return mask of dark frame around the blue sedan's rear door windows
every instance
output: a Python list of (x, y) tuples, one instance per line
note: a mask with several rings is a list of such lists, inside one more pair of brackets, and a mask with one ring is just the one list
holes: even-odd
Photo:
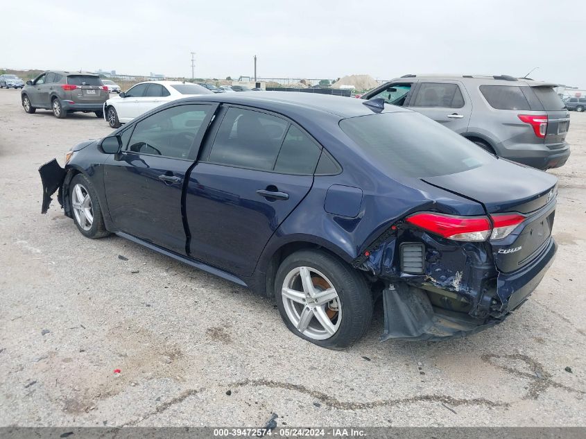
[[(230, 110), (230, 108), (239, 108), (241, 110), (250, 110), (250, 111), (268, 114), (269, 116), (277, 117), (278, 119), (282, 119), (284, 122), (288, 123), (286, 130), (284, 130), (284, 133), (283, 133), (283, 136), (281, 139), (281, 144), (279, 145), (279, 152), (277, 153), (277, 156), (275, 157), (275, 162), (273, 162), (273, 169), (258, 169), (258, 168), (251, 168), (250, 166), (238, 166), (238, 165), (233, 165), (233, 164), (209, 161), (209, 155), (212, 153), (212, 148), (213, 148), (214, 143), (216, 141), (216, 136), (218, 135), (218, 131), (220, 130), (220, 126), (221, 126), (228, 110)], [(293, 121), (293, 119), (286, 117), (284, 114), (280, 114), (280, 113), (273, 112), (270, 110), (265, 110), (264, 108), (252, 107), (249, 105), (231, 104), (231, 103), (222, 103), (220, 112), (221, 113), (219, 114), (219, 117), (216, 117), (216, 119), (214, 120), (214, 126), (212, 127), (212, 130), (210, 131), (210, 135), (207, 137), (207, 139), (205, 141), (205, 145), (200, 147), (200, 150), (202, 150), (202, 153), (205, 153), (205, 155), (207, 155), (207, 157), (199, 156), (197, 159), (198, 163), (201, 162), (201, 163), (207, 163), (207, 164), (214, 164), (217, 166), (228, 166), (230, 168), (236, 168), (236, 169), (249, 169), (250, 171), (268, 172), (268, 173), (274, 173), (274, 174), (280, 174), (280, 175), (298, 175), (298, 176), (316, 175), (316, 169), (318, 168), (318, 163), (320, 161), (322, 151), (325, 150), (325, 148), (322, 146), (322, 144), (320, 144), (319, 141), (316, 140), (315, 137), (313, 137), (307, 130), (305, 130), (302, 126), (300, 126), (299, 123)], [(316, 162), (316, 169), (314, 169), (313, 173), (311, 173), (311, 174), (275, 171), (275, 164), (277, 163), (277, 160), (279, 159), (279, 154), (281, 153), (281, 148), (283, 147), (283, 142), (285, 141), (285, 137), (287, 135), (289, 128), (291, 128), (291, 126), (295, 126), (295, 128), (298, 128), (304, 135), (307, 135), (307, 137), (313, 142), (313, 144), (316, 145), (316, 148), (318, 148), (318, 150), (320, 150), (318, 162)], [(341, 169), (341, 165), (339, 164), (338, 160), (336, 160), (334, 158), (334, 156), (331, 155), (331, 153), (329, 153), (329, 151), (327, 151), (327, 153), (329, 154), (329, 156), (332, 159), (334, 159), (334, 162), (338, 165), (337, 167)], [(327, 175), (337, 175), (337, 174), (327, 174)]]

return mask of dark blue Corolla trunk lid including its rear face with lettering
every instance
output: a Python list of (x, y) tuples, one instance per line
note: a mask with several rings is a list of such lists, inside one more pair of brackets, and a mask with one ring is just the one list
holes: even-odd
[(469, 171), (422, 180), (476, 200), (488, 214), (526, 216), (508, 236), (490, 241), (494, 262), (502, 273), (531, 263), (551, 239), (557, 193), (553, 175), (499, 159)]

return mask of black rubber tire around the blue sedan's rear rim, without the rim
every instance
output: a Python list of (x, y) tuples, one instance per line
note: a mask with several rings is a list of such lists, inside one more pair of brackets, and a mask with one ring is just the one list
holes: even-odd
[[(295, 267), (308, 266), (323, 273), (334, 285), (342, 309), (342, 321), (334, 336), (325, 340), (315, 340), (305, 336), (289, 320), (283, 304), (281, 289), (286, 275)], [(277, 270), (275, 277), (275, 300), (285, 325), (293, 334), (322, 347), (343, 349), (355, 343), (368, 327), (372, 318), (372, 296), (368, 285), (359, 273), (336, 257), (320, 250), (303, 250), (288, 256)], [(362, 321), (356, 320), (361, 318)]]

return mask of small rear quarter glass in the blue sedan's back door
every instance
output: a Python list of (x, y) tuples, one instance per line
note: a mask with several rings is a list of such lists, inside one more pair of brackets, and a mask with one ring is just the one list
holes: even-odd
[(279, 151), (275, 171), (312, 175), (320, 158), (320, 148), (296, 126), (291, 125)]

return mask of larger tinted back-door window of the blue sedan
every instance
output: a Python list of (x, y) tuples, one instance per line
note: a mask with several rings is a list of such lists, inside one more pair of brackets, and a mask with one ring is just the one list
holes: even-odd
[(272, 171), (287, 128), (286, 121), (270, 114), (229, 108), (209, 162)]

